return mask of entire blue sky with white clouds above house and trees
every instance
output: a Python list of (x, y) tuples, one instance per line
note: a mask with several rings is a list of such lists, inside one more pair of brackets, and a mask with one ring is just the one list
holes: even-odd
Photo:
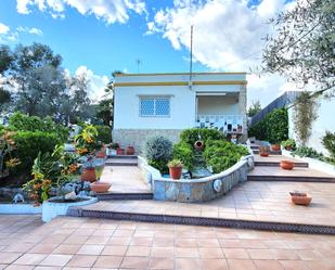
[(114, 70), (250, 72), (248, 104), (267, 105), (294, 86), (256, 75), (269, 18), (287, 0), (0, 0), (0, 43), (48, 44), (70, 74), (86, 73), (99, 100)]

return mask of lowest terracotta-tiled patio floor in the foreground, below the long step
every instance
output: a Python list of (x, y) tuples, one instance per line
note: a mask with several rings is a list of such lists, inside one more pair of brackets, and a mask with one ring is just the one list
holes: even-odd
[[(30, 217), (25, 223), (37, 224)], [(25, 235), (1, 235), (1, 245), (8, 242), (0, 269), (335, 269), (328, 235), (62, 217)]]

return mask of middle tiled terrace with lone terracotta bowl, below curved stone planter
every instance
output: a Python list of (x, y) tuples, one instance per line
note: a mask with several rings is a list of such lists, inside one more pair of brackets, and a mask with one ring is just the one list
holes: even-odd
[[(289, 191), (312, 195), (308, 207), (289, 202)], [(111, 201), (81, 207), (118, 213), (245, 219), (335, 226), (335, 183), (247, 181), (221, 198), (198, 204), (160, 201)]]

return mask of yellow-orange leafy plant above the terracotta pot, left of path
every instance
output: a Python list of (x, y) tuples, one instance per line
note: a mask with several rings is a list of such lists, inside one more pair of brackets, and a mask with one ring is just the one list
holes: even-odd
[(76, 151), (79, 155), (93, 155), (94, 152), (101, 149), (101, 143), (98, 141), (98, 130), (91, 125), (87, 125), (79, 134), (75, 137)]

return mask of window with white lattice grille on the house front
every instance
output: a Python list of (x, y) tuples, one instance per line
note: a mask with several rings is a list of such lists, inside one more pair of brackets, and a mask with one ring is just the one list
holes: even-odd
[(142, 117), (169, 117), (170, 99), (164, 97), (140, 98), (140, 116)]

